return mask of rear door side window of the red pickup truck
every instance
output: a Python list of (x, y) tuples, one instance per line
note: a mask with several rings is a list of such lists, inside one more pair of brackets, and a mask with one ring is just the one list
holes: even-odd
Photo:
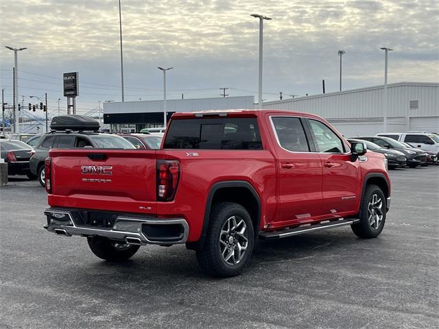
[(292, 152), (309, 152), (309, 143), (299, 118), (272, 117), (276, 138), (284, 149)]

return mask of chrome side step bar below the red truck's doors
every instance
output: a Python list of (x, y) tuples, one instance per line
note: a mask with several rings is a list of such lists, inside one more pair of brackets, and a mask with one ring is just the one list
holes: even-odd
[(338, 228), (340, 226), (352, 225), (358, 223), (359, 219), (336, 219), (335, 221), (320, 221), (316, 224), (298, 226), (296, 228), (286, 228), (283, 230), (276, 230), (270, 232), (261, 232), (259, 233), (259, 238), (268, 240), (268, 239), (281, 239), (286, 238), (288, 236), (294, 236), (298, 234), (327, 230), (329, 228)]

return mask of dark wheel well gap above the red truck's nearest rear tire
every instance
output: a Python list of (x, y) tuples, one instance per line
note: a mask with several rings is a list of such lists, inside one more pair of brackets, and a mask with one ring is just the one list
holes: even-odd
[[(259, 202), (253, 193), (246, 187), (224, 187), (215, 191), (212, 205), (217, 202), (235, 202), (248, 211), (252, 219), (254, 234), (259, 232)], [(210, 214), (209, 214), (210, 215)]]

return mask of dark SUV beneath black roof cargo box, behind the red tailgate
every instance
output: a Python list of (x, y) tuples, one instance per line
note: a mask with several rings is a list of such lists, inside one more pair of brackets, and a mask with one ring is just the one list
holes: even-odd
[(45, 186), (44, 163), (50, 149), (73, 149), (91, 147), (99, 149), (134, 149), (126, 139), (99, 132), (51, 132), (43, 135), (32, 151), (30, 170), (38, 176), (38, 181)]

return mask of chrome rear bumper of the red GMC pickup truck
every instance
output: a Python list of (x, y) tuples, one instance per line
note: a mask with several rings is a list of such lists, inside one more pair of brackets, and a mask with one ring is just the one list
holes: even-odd
[(135, 245), (186, 243), (189, 235), (189, 225), (183, 218), (142, 218), (124, 214), (114, 220), (111, 228), (94, 228), (78, 225), (71, 211), (64, 208), (48, 208), (44, 213), (47, 216), (45, 229), (57, 235), (105, 236)]

